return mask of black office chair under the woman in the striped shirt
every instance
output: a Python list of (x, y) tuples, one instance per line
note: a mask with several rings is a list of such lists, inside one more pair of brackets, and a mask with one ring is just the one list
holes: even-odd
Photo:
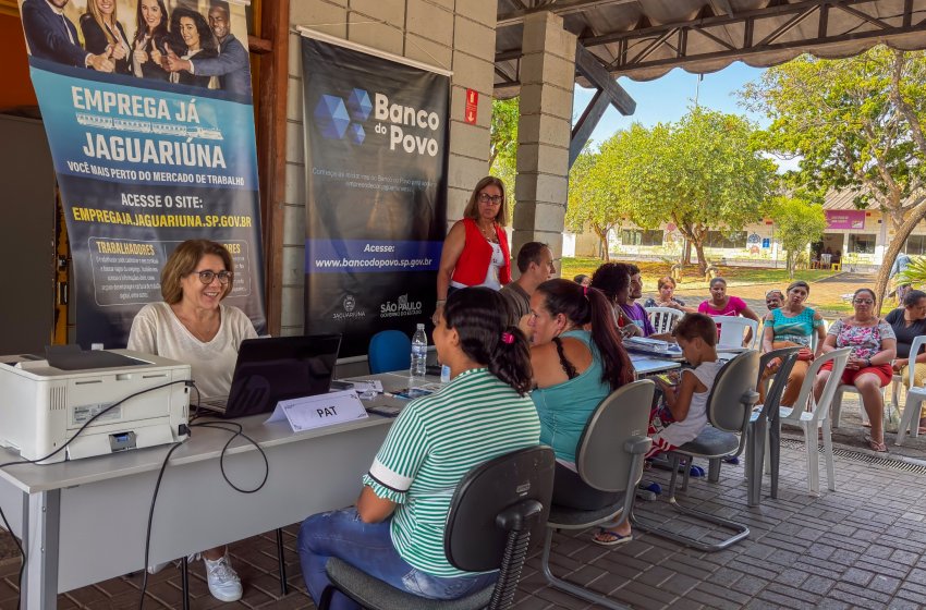
[(447, 515), (444, 553), (466, 572), (498, 570), (494, 586), (460, 599), (426, 599), (331, 558), (325, 569), (332, 586), (322, 593), (319, 610), (328, 610), (336, 589), (371, 610), (509, 608), (532, 534), (547, 521), (555, 464), (549, 447), (522, 449), (473, 467), (456, 487)]

